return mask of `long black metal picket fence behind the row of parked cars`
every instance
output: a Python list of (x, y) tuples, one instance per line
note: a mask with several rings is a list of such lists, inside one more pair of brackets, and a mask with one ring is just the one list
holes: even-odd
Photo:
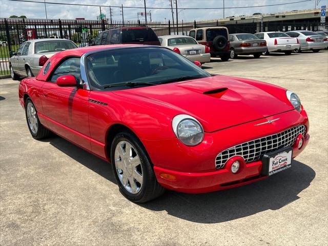
[[(9, 74), (10, 51), (17, 51), (20, 44), (29, 39), (36, 38), (66, 38), (71, 39), (78, 46), (85, 46), (99, 32), (114, 26), (135, 27), (146, 25), (140, 20), (114, 21), (106, 20), (67, 20), (67, 19), (20, 19), (0, 18), (0, 75)], [(148, 22), (157, 36), (182, 34), (188, 35), (189, 30), (197, 27), (224, 26), (229, 33), (256, 33), (263, 31), (288, 31), (288, 30), (317, 30), (320, 19), (304, 20), (302, 22), (251, 22), (241, 23), (240, 20), (220, 22), (193, 21), (193, 22)]]

